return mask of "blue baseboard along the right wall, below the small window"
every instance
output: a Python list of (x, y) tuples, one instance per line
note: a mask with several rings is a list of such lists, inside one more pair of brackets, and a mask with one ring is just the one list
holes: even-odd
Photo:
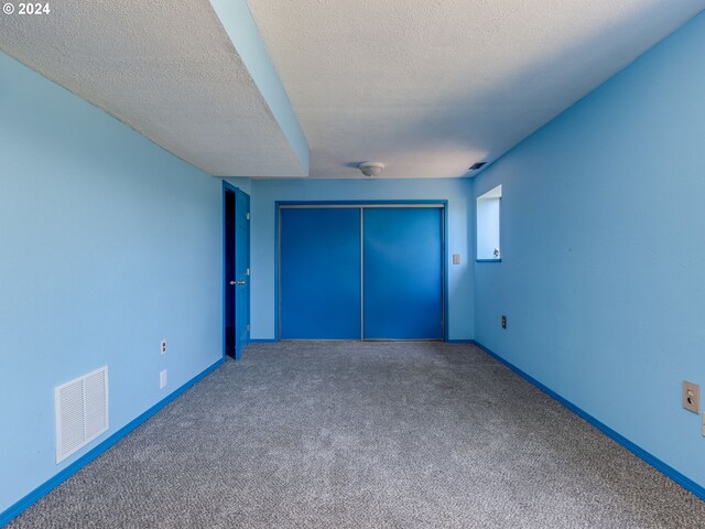
[(694, 482), (690, 477), (681, 474), (679, 471), (673, 468), (671, 465), (664, 463), (663, 461), (659, 460), (657, 456), (650, 454), (649, 452), (643, 450), (638, 444), (633, 443), (629, 439), (625, 438), (622, 434), (620, 434), (620, 433), (616, 432), (615, 430), (612, 430), (611, 428), (609, 428), (607, 424), (605, 424), (605, 423), (600, 422), (599, 420), (595, 419), (593, 415), (590, 415), (589, 413), (587, 413), (583, 409), (578, 408), (573, 402), (564, 399), (558, 393), (556, 393), (555, 391), (553, 391), (552, 389), (550, 389), (549, 387), (544, 386), (539, 380), (533, 378), (531, 375), (525, 374), (524, 371), (519, 369), (517, 366), (514, 366), (510, 361), (508, 361), (505, 358), (502, 358), (501, 356), (499, 356), (497, 353), (494, 353), (492, 350), (488, 349), (487, 347), (485, 347), (482, 344), (480, 344), (478, 342), (474, 341), (474, 344), (475, 344), (475, 346), (477, 348), (484, 350), (487, 355), (491, 356), (497, 361), (499, 361), (499, 363), (503, 364), (505, 366), (507, 366), (509, 369), (514, 371), (517, 375), (519, 375), (521, 378), (527, 380), (529, 384), (535, 386), (538, 389), (540, 389), (541, 391), (546, 393), (553, 400), (555, 400), (556, 402), (558, 402), (563, 407), (567, 408), (570, 411), (572, 411), (573, 413), (575, 413), (579, 418), (584, 419), (585, 421), (590, 423), (593, 427), (597, 428), (605, 435), (607, 435), (611, 440), (616, 441), (617, 443), (621, 444), (625, 449), (627, 449), (629, 452), (634, 454), (637, 457), (643, 460), (646, 463), (648, 463), (649, 465), (653, 466), (657, 471), (661, 472), (666, 477), (673, 479), (675, 483), (681, 485), (683, 488), (685, 488), (690, 493), (693, 493), (695, 496), (697, 496), (703, 501), (705, 501), (705, 487), (703, 487), (698, 483)]

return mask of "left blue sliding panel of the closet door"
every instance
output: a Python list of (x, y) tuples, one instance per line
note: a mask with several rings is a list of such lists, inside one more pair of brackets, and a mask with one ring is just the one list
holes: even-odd
[(280, 215), (280, 337), (360, 339), (360, 209)]

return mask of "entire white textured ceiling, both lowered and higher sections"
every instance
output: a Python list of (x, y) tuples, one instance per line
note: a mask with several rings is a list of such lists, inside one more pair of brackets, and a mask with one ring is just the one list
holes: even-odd
[[(705, 9), (705, 0), (248, 3), (314, 177), (360, 177), (366, 160), (386, 163), (382, 177), (471, 174), (471, 163), (495, 160)], [(0, 15), (0, 48), (213, 175), (305, 175), (208, 0), (51, 8)]]

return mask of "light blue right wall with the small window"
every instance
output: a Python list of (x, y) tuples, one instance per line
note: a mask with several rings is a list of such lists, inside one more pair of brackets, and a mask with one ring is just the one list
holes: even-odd
[(704, 56), (701, 14), (475, 182), (502, 184), (477, 341), (701, 485), (681, 382), (705, 385)]

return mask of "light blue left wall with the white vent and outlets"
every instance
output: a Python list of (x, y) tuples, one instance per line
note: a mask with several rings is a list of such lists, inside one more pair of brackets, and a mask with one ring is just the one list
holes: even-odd
[(219, 180), (4, 54), (0, 78), (2, 512), (86, 452), (55, 464), (55, 386), (109, 366), (95, 446), (221, 357), (223, 229)]

